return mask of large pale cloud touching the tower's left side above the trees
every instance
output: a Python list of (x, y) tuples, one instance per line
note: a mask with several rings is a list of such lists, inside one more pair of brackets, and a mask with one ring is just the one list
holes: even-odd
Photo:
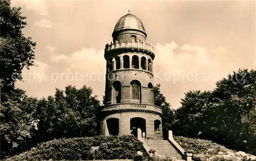
[(56, 65), (48, 75), (48, 81), (52, 89), (63, 89), (67, 85), (74, 85), (81, 88), (83, 85), (93, 89), (94, 94), (104, 94), (106, 61), (103, 50), (94, 48), (80, 48), (68, 55), (57, 52), (57, 48), (47, 46), (50, 50), (50, 61)]

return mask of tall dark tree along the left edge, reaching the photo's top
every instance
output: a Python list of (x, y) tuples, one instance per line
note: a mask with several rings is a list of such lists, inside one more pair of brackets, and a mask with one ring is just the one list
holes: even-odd
[(22, 70), (34, 65), (35, 43), (22, 33), (26, 17), (20, 9), (0, 0), (1, 156), (23, 151), (33, 137), (36, 99), (15, 88), (15, 82), (22, 81)]

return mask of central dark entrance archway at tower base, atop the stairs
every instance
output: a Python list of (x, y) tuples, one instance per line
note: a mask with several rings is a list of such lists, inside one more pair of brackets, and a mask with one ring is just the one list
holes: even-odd
[(136, 138), (138, 137), (138, 128), (141, 129), (141, 135), (143, 132), (146, 133), (146, 120), (141, 117), (130, 119), (130, 130), (132, 135), (134, 135)]

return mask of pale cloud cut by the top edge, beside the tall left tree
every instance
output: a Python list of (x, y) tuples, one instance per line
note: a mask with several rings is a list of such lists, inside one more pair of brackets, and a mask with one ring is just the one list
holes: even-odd
[(20, 0), (12, 0), (11, 1), (12, 6), (26, 6), (27, 9), (34, 10), (39, 15), (45, 16), (48, 14), (48, 7), (46, 5), (45, 0), (26, 0), (26, 1), (20, 1)]

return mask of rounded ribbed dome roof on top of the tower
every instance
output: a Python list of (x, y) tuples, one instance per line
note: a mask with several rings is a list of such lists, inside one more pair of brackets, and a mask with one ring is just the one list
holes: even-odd
[(146, 30), (141, 20), (131, 13), (128, 13), (122, 16), (117, 21), (114, 32), (123, 30), (123, 29), (135, 29), (135, 30), (140, 30), (146, 33)]

